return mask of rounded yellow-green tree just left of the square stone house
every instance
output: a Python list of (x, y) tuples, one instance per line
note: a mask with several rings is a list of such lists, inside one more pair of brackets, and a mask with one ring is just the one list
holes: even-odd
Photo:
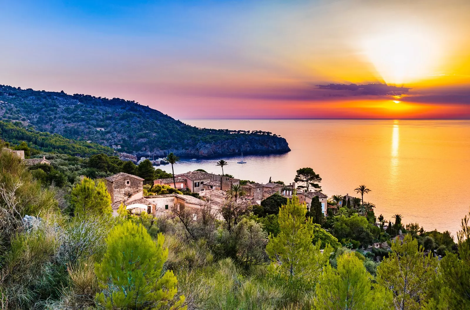
[(83, 178), (71, 192), (71, 206), (76, 216), (110, 215), (111, 196), (102, 180)]

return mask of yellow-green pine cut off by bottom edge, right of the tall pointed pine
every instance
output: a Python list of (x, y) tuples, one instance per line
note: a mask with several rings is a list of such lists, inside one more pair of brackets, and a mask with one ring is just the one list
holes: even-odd
[(327, 266), (316, 290), (316, 310), (390, 309), (392, 293), (373, 285), (371, 275), (353, 253), (337, 259), (338, 267)]

